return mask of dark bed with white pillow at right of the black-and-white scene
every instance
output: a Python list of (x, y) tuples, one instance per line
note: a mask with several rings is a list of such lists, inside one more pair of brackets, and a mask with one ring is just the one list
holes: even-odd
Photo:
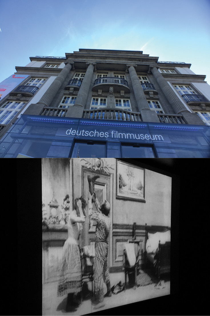
[(168, 226), (145, 225), (145, 251), (142, 253), (143, 268), (155, 276), (170, 273), (171, 229)]

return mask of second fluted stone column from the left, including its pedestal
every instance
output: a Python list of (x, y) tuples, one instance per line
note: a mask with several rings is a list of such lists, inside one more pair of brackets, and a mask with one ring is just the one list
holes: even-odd
[(85, 107), (85, 102), (88, 96), (88, 91), (90, 88), (90, 82), (92, 79), (93, 71), (96, 70), (96, 63), (86, 63), (87, 70), (79, 88), (77, 94), (76, 102), (73, 106), (70, 106), (66, 112), (66, 117), (81, 118), (83, 116), (83, 110)]

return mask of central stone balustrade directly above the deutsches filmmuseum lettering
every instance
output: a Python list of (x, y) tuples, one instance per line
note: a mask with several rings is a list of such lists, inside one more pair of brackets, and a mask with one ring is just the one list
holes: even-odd
[(130, 112), (126, 110), (116, 110), (116, 108), (110, 109), (96, 109), (96, 110), (84, 110), (83, 119), (106, 119), (106, 120), (118, 120), (118, 121), (133, 121), (142, 122), (141, 114), (137, 112)]

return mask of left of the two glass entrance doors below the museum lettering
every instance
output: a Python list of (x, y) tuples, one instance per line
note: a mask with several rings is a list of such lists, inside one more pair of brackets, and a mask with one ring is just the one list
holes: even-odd
[(72, 158), (106, 157), (106, 143), (92, 141), (74, 143)]

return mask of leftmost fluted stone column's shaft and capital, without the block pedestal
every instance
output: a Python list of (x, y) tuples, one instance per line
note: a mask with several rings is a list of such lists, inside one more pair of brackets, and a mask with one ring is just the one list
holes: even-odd
[(65, 62), (66, 66), (61, 70), (59, 75), (55, 78), (53, 83), (50, 85), (50, 87), (47, 89), (47, 91), (44, 93), (44, 95), (41, 97), (39, 102), (37, 104), (42, 104), (42, 106), (49, 106), (50, 103), (52, 102), (55, 94), (58, 92), (58, 90), (61, 88), (64, 80), (66, 77), (69, 75), (69, 71), (74, 67), (73, 64), (74, 62)]

